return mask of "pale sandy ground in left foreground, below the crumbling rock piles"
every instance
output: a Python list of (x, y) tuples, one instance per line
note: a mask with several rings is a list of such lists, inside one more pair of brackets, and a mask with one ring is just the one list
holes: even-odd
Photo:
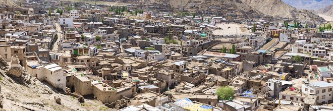
[[(1, 69), (0, 69), (1, 70)], [(84, 103), (80, 103), (76, 97), (58, 93), (56, 90), (50, 88), (46, 83), (36, 81), (34, 87), (27, 87), (22, 85), (17, 80), (13, 80), (7, 75), (3, 75), (3, 70), (0, 71), (2, 75), (1, 92), (4, 97), (3, 103), (5, 110), (26, 110), (22, 106), (15, 104), (37, 103), (24, 106), (33, 107), (40, 110), (114, 110), (106, 107), (100, 100), (85, 99)], [(47, 91), (45, 91), (47, 90)], [(50, 92), (46, 93), (46, 92)], [(61, 98), (61, 104), (54, 100), (54, 96)]]

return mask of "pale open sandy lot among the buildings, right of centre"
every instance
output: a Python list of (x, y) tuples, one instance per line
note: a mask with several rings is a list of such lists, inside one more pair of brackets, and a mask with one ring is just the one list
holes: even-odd
[[(214, 35), (235, 35), (237, 30), (237, 35), (248, 35), (249, 30), (245, 28), (243, 24), (236, 24), (236, 23), (221, 23), (216, 24), (217, 27), (221, 28), (220, 30), (214, 30)], [(230, 28), (228, 28), (230, 27)], [(237, 28), (236, 28), (237, 27)]]

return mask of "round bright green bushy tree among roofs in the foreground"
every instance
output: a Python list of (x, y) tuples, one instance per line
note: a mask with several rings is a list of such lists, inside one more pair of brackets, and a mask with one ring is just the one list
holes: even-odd
[(223, 86), (217, 88), (216, 95), (218, 99), (228, 100), (234, 96), (234, 89), (229, 86)]

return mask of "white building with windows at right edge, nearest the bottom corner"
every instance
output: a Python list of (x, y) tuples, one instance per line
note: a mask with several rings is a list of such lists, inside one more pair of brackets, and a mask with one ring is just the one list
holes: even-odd
[(332, 83), (316, 81), (309, 84), (302, 84), (302, 92), (317, 95), (317, 103), (329, 103), (333, 99)]

